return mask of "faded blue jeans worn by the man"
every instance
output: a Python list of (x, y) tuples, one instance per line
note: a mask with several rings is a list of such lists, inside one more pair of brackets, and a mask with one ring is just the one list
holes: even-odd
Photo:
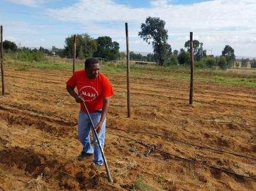
[[(99, 112), (92, 112), (89, 113), (91, 116), (92, 122), (94, 126), (98, 125), (99, 120), (101, 120), (101, 113)], [(94, 139), (94, 148), (92, 148), (91, 140), (90, 140), (90, 132), (91, 132), (91, 122), (87, 116), (87, 113), (82, 112), (80, 109), (79, 117), (78, 117), (78, 138), (83, 145), (82, 151), (85, 153), (94, 153), (94, 160), (95, 164), (102, 165), (103, 158), (101, 155), (101, 149), (99, 149), (99, 143), (97, 141), (94, 132), (92, 132), (92, 138)], [(105, 142), (105, 129), (106, 129), (106, 118), (102, 124), (101, 131), (98, 133), (99, 142), (101, 143), (102, 149), (104, 148)]]

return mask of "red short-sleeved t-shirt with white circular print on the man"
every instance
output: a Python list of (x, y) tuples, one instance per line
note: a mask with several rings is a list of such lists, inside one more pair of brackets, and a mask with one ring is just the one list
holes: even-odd
[[(87, 106), (89, 113), (101, 109), (103, 106), (102, 98), (114, 94), (111, 83), (108, 81), (106, 76), (99, 73), (98, 78), (89, 79), (87, 78), (85, 69), (76, 71), (66, 84), (72, 88), (77, 86), (78, 94), (84, 97), (85, 105)], [(86, 113), (82, 103), (81, 109), (84, 113)]]

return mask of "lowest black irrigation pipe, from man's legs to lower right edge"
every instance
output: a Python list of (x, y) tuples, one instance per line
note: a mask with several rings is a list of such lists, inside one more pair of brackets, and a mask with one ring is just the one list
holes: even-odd
[(184, 157), (182, 157), (182, 156), (173, 155), (172, 153), (168, 153), (168, 152), (166, 152), (166, 151), (164, 151), (164, 150), (159, 150), (159, 149), (157, 149), (157, 148), (154, 148), (154, 146), (151, 146), (151, 145), (148, 145), (148, 144), (139, 142), (138, 140), (135, 140), (135, 139), (132, 139), (132, 138), (128, 138), (127, 136), (116, 135), (116, 134), (114, 134), (114, 133), (109, 133), (109, 134), (115, 135), (115, 136), (119, 136), (119, 137), (122, 137), (122, 138), (125, 138), (125, 139), (133, 140), (134, 142), (139, 143), (139, 144), (144, 145), (144, 146), (147, 146), (147, 147), (151, 148), (152, 150), (158, 150), (159, 152), (165, 153), (165, 154), (167, 154), (167, 155), (174, 156), (174, 157), (179, 158), (179, 159), (188, 160), (189, 162), (198, 163), (198, 164), (200, 164), (200, 165), (205, 165), (205, 166), (211, 167), (212, 169), (221, 170), (221, 171), (223, 171), (223, 172), (230, 173), (230, 174), (232, 174), (232, 175), (241, 176), (241, 177), (247, 177), (248, 179), (256, 180), (255, 177), (240, 175), (240, 174), (237, 174), (237, 173), (234, 173), (234, 172), (225, 170), (225, 169), (221, 169), (221, 168), (216, 167), (216, 166), (208, 165), (208, 164), (203, 163), (203, 162), (198, 162), (197, 160), (191, 160), (191, 159), (184, 158)]

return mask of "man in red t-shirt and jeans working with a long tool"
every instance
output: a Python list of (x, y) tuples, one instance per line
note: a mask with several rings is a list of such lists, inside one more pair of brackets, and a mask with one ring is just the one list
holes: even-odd
[[(93, 162), (98, 168), (101, 168), (104, 161), (99, 148), (99, 143), (94, 133), (92, 133), (94, 139), (94, 148), (92, 148), (89, 136), (91, 123), (84, 105), (82, 104), (82, 102), (84, 102), (87, 106), (103, 149), (109, 100), (114, 92), (107, 77), (100, 73), (99, 70), (100, 65), (98, 59), (88, 58), (85, 61), (85, 69), (76, 71), (68, 80), (67, 91), (75, 98), (77, 103), (80, 103), (81, 106), (78, 117), (78, 138), (82, 143), (83, 148), (77, 159), (84, 160), (89, 156), (94, 155)], [(78, 94), (74, 90), (75, 86), (77, 86)]]

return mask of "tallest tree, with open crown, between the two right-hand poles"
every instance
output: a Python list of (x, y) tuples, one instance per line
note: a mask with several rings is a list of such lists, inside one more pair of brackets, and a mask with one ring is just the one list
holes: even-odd
[(152, 43), (154, 54), (161, 66), (164, 64), (164, 55), (171, 50), (171, 45), (167, 43), (168, 31), (164, 26), (165, 21), (149, 16), (145, 24), (141, 24), (141, 31), (138, 33), (148, 44)]

